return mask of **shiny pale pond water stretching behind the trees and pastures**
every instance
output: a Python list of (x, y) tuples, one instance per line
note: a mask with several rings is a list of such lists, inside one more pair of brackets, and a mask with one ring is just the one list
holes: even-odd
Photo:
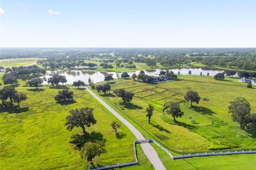
[[(224, 70), (218, 70), (218, 69), (212, 69), (212, 68), (205, 68), (205, 67), (177, 67), (175, 69), (169, 69), (170, 71), (173, 71), (175, 74), (178, 74), (180, 72), (181, 75), (188, 74), (188, 71), (191, 70), (191, 73), (193, 75), (199, 75), (201, 72), (203, 75), (206, 75), (209, 73), (209, 75), (213, 76), (217, 73), (222, 73)], [(154, 69), (154, 70), (144, 70), (147, 75), (154, 75), (157, 76), (160, 73), (160, 69)], [(166, 70), (164, 70), (166, 71)], [(135, 72), (129, 72), (129, 75), (132, 75), (133, 73), (138, 74), (140, 71)], [(85, 83), (88, 83), (88, 79), (91, 78), (94, 83), (104, 81), (104, 77), (107, 74), (112, 74), (113, 78), (117, 78), (117, 74), (121, 75), (121, 73), (116, 72), (89, 72), (89, 71), (82, 71), (82, 70), (58, 70), (58, 71), (47, 71), (49, 74), (60, 74), (65, 75), (67, 78), (67, 84), (73, 84), (74, 81), (84, 81)], [(237, 76), (237, 75), (235, 75)], [(50, 78), (50, 75), (45, 76), (47, 79)]]

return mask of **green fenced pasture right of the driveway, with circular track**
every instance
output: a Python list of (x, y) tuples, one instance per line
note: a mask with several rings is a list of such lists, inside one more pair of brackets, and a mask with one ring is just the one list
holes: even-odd
[[(251, 104), (252, 113), (256, 112), (256, 89), (246, 88), (246, 83), (237, 79), (226, 78), (216, 81), (213, 77), (196, 75), (179, 75), (181, 81), (146, 84), (132, 80), (118, 81), (111, 84), (111, 90), (124, 88), (134, 92), (131, 104), (123, 105), (122, 99), (110, 95), (106, 100), (126, 113), (150, 132), (153, 138), (161, 140), (170, 148), (185, 152), (209, 151), (220, 149), (252, 149), (256, 148), (255, 134), (239, 128), (239, 124), (231, 120), (228, 113), (229, 102), (236, 97), (244, 97)], [(195, 107), (183, 104), (183, 97), (188, 90), (197, 91), (201, 100)], [(113, 93), (113, 91), (110, 91)], [(163, 113), (166, 101), (180, 103), (184, 116), (173, 121), (170, 115)], [(147, 123), (145, 109), (148, 104), (155, 107), (151, 124)], [(194, 120), (194, 121), (193, 121)], [(132, 122), (132, 121), (131, 121)]]

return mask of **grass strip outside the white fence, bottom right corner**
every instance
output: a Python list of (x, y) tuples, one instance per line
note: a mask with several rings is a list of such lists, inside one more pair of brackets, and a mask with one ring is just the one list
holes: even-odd
[(256, 154), (225, 155), (225, 156), (207, 156), (193, 157), (173, 160), (165, 151), (159, 148), (155, 143), (151, 145), (157, 151), (159, 158), (166, 169), (182, 170), (229, 170), (229, 169), (255, 169)]

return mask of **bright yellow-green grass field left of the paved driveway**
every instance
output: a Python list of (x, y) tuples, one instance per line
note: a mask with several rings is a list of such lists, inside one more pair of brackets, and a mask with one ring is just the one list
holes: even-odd
[[(81, 134), (81, 128), (66, 130), (64, 123), (70, 109), (92, 107), (97, 124), (87, 131), (94, 134), (92, 138), (106, 141), (107, 153), (95, 160), (102, 166), (133, 162), (135, 140), (126, 126), (118, 130), (123, 138), (117, 138), (110, 123), (118, 121), (105, 107), (98, 103), (85, 90), (72, 89), (75, 103), (60, 105), (54, 96), (58, 89), (33, 91), (18, 89), (27, 94), (22, 101), (21, 113), (1, 113), (1, 168), (3, 169), (85, 169), (87, 162), (81, 159), (80, 151), (74, 149), (70, 137)], [(95, 133), (92, 133), (95, 132)], [(149, 169), (150, 163), (137, 145), (140, 166), (132, 169)], [(95, 164), (97, 165), (97, 164)], [(126, 169), (126, 168), (124, 168)], [(131, 169), (131, 167), (127, 168)]]

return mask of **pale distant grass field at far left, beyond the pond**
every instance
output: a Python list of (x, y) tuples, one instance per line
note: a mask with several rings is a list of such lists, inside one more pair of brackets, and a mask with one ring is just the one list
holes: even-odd
[(6, 59), (0, 60), (0, 66), (4, 68), (11, 68), (13, 66), (28, 66), (34, 65), (38, 60), (42, 60), (43, 58), (15, 58), (15, 59)]

